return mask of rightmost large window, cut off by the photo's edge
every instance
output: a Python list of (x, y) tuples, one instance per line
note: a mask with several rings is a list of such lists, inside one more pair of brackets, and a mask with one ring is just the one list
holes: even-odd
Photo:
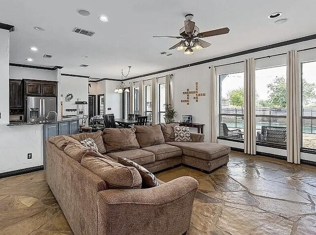
[(316, 149), (316, 61), (302, 64), (302, 147)]

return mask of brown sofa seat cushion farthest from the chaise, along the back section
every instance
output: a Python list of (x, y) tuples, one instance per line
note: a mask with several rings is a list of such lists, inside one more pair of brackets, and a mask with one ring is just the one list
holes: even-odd
[(153, 153), (147, 152), (141, 149), (127, 150), (116, 153), (108, 153), (109, 157), (118, 160), (118, 157), (125, 157), (140, 165), (149, 164), (155, 162), (155, 155)]

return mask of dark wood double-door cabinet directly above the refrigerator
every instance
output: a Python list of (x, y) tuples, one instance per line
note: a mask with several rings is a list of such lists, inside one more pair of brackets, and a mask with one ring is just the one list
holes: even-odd
[(42, 80), (24, 80), (25, 94), (27, 96), (49, 96), (57, 95), (57, 82)]

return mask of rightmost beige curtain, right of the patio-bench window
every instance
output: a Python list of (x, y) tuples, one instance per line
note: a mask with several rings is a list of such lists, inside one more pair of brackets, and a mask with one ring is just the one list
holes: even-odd
[(300, 79), (297, 51), (287, 52), (286, 64), (286, 134), (287, 161), (300, 164), (301, 115), (300, 115)]

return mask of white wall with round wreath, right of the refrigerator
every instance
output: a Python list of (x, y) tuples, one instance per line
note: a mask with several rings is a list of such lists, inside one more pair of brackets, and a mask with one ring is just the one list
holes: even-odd
[[(63, 101), (64, 115), (76, 115), (78, 114), (78, 105), (76, 101), (88, 102), (88, 78), (76, 78), (69, 76), (61, 76), (58, 83), (59, 96), (63, 95), (61, 100)], [(66, 95), (73, 94), (74, 98), (70, 102), (66, 102)], [(66, 109), (77, 109), (77, 112), (66, 112)], [(85, 115), (88, 115), (88, 105), (85, 107)]]

